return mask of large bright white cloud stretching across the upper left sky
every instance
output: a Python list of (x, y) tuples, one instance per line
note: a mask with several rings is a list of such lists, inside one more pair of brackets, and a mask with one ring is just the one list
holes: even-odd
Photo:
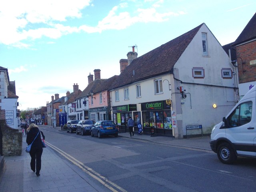
[[(9, 0), (0, 2), (0, 44), (19, 48), (30, 48), (31, 42), (43, 36), (57, 39), (63, 35), (84, 31), (87, 33), (104, 30), (122, 30), (136, 22), (164, 22), (180, 13), (160, 13), (157, 8), (163, 0), (145, 0), (148, 8), (132, 10), (127, 2), (114, 6), (97, 26), (65, 26), (67, 20), (81, 18), (86, 6), (94, 6), (91, 0)], [(136, 3), (136, 2), (135, 2)], [(14, 6), (15, 5), (15, 6)], [(125, 10), (125, 11), (124, 11)]]

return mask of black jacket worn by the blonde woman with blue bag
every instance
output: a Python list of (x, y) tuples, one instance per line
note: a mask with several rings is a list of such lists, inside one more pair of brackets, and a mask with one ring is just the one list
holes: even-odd
[[(36, 137), (38, 132), (39, 132), (39, 129), (37, 127), (32, 127), (29, 130), (29, 132), (27, 132), (26, 142), (28, 145), (30, 145), (32, 143), (32, 141), (34, 140), (34, 138)], [(43, 138), (45, 138), (43, 132), (42, 131), (40, 131), (40, 132), (41, 132)], [(41, 136), (39, 133), (38, 136), (36, 137), (36, 139), (34, 140), (30, 151), (35, 151), (35, 150), (42, 149), (42, 148), (43, 148), (43, 145), (42, 145)]]

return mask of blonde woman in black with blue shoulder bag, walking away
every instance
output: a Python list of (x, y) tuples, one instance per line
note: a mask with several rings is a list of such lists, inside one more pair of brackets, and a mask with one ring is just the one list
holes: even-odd
[(41, 156), (43, 152), (43, 145), (41, 140), (41, 134), (42, 137), (44, 137), (44, 134), (42, 131), (39, 130), (38, 126), (34, 123), (30, 124), (27, 130), (27, 138), (26, 142), (28, 145), (30, 145), (33, 140), (33, 144), (31, 146), (31, 150), (29, 152), (31, 156), (30, 161), (30, 168), (33, 172), (36, 172), (36, 176), (40, 176), (40, 170), (41, 170)]

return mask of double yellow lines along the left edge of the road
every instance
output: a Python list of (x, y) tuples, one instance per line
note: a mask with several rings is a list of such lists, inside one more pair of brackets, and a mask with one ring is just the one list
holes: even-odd
[[(45, 141), (46, 142), (46, 141)], [(101, 184), (103, 184), (104, 186), (106, 186), (108, 189), (110, 189), (113, 192), (127, 192), (126, 190), (124, 190), (123, 188), (121, 188), (120, 186), (116, 185), (115, 183), (111, 182), (110, 180), (108, 180), (107, 178), (105, 178), (104, 176), (100, 175), (99, 173), (97, 173), (96, 171), (94, 171), (92, 168), (85, 166), (82, 162), (78, 161), (76, 158), (72, 157), (71, 155), (67, 154), (66, 152), (62, 151), (61, 149), (57, 148), (56, 146), (50, 144), (49, 142), (46, 142), (46, 144), (48, 146), (50, 146), (50, 148), (56, 150), (58, 153), (60, 153), (62, 156), (64, 156), (66, 159), (70, 160), (73, 164), (75, 164), (76, 166), (78, 166), (79, 168), (81, 168), (84, 172), (86, 172), (88, 175), (90, 175), (92, 178), (96, 179), (98, 182), (100, 182)], [(112, 186), (114, 186), (115, 188), (117, 188), (118, 190), (114, 189)]]

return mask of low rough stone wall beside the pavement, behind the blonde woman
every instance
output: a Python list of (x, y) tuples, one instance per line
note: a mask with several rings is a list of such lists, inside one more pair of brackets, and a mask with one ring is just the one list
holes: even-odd
[(0, 110), (0, 129), (2, 131), (2, 154), (19, 156), (22, 152), (22, 132), (6, 124), (5, 110)]

